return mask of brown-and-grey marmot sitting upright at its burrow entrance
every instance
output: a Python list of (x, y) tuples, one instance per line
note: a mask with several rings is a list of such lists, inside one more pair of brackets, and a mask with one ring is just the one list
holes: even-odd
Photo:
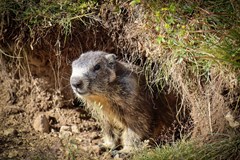
[[(72, 63), (71, 87), (102, 124), (103, 145), (122, 152), (156, 139), (175, 120), (175, 98), (152, 93), (131, 65), (115, 54), (89, 51)], [(169, 98), (169, 97), (168, 97)], [(171, 98), (171, 97), (170, 97)]]

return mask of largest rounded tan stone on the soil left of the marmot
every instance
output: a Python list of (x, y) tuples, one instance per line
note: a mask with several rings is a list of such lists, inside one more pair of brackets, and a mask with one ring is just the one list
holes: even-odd
[(39, 114), (33, 122), (35, 131), (49, 133), (49, 122), (45, 114)]

